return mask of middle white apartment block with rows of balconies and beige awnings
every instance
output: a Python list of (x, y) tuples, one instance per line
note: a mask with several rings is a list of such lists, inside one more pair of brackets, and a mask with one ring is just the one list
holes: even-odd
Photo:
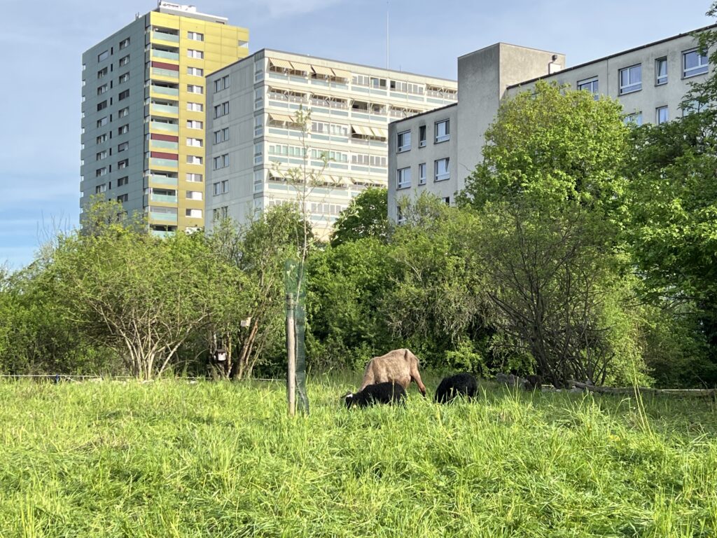
[[(306, 208), (326, 239), (369, 186), (386, 186), (389, 121), (455, 104), (453, 80), (262, 49), (207, 77), (206, 227), (295, 202), (283, 171), (323, 168)], [(305, 141), (295, 113), (310, 111)]]

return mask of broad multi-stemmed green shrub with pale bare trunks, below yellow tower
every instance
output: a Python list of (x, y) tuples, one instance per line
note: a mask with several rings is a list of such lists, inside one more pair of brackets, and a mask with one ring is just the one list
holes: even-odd
[(175, 366), (180, 346), (211, 319), (226, 291), (241, 293), (239, 270), (218, 263), (201, 234), (158, 239), (119, 222), (95, 219), (118, 213), (116, 202), (95, 202), (92, 234), (62, 237), (53, 273), (65, 316), (99, 345), (123, 357), (143, 379)]

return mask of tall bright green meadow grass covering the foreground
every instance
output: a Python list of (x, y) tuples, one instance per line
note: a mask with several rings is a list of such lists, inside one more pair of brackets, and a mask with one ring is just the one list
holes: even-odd
[(480, 387), (348, 411), (349, 387), (314, 379), (290, 419), (277, 383), (2, 383), (0, 536), (717, 533), (707, 400)]

